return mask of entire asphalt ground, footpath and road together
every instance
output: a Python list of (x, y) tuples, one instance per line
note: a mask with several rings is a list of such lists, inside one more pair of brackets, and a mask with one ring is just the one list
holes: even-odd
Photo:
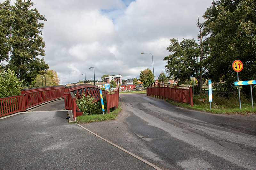
[(0, 169), (256, 169), (256, 115), (198, 112), (145, 94), (120, 94), (120, 103), (111, 121), (68, 123), (61, 100), (0, 120)]

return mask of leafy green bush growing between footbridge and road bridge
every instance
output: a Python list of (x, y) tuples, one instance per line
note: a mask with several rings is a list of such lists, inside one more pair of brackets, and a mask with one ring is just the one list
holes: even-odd
[(95, 101), (95, 98), (91, 95), (87, 95), (83, 93), (81, 99), (76, 99), (77, 107), (83, 111), (83, 115), (92, 115), (99, 114), (101, 112), (101, 104), (99, 107), (99, 102)]

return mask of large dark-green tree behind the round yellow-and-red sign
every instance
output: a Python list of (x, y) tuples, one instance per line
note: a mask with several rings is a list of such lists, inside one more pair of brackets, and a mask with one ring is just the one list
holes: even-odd
[[(232, 63), (240, 60), (244, 68), (241, 80), (256, 77), (256, 3), (255, 0), (217, 0), (204, 14), (204, 32), (209, 36), (211, 48), (209, 76), (214, 82), (226, 83), (234, 89), (237, 81)], [(246, 88), (246, 87), (243, 87)]]

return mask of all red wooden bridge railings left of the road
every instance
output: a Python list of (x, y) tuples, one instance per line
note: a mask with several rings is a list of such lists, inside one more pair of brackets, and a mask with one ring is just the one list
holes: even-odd
[[(76, 99), (80, 99), (82, 93), (85, 96), (92, 95), (96, 101), (100, 100), (100, 87), (95, 85), (46, 86), (22, 89), (20, 95), (0, 98), (0, 117), (26, 111), (46, 102), (64, 98), (65, 109), (72, 110), (73, 118), (76, 120), (76, 112), (78, 111), (81, 114), (76, 105)], [(114, 92), (102, 90), (102, 95), (106, 96), (108, 113), (109, 108), (118, 107), (118, 90)]]

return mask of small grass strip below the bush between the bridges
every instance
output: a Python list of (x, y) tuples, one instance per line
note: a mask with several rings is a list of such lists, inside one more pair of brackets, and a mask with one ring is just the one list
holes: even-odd
[(116, 116), (118, 113), (122, 110), (120, 107), (120, 104), (118, 105), (118, 108), (116, 108), (114, 111), (110, 113), (104, 113), (103, 114), (93, 114), (93, 115), (82, 115), (76, 117), (76, 122), (100, 122), (100, 121), (106, 121), (106, 120), (113, 120), (116, 119)]

